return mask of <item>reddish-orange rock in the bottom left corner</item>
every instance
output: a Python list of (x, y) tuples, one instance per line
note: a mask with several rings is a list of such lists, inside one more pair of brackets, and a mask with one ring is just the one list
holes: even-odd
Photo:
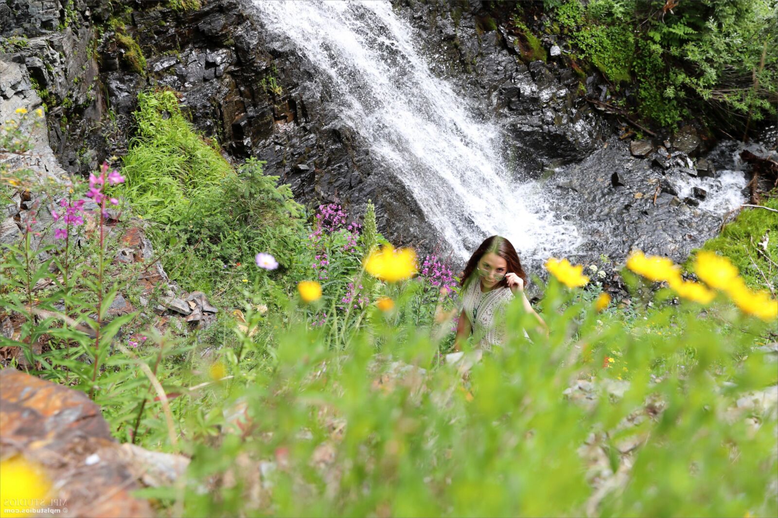
[[(0, 370), (0, 457), (42, 465), (61, 502), (57, 516), (155, 516), (130, 493), (141, 486), (121, 461), (100, 407), (85, 394), (18, 370)], [(67, 511), (65, 512), (65, 509)]]

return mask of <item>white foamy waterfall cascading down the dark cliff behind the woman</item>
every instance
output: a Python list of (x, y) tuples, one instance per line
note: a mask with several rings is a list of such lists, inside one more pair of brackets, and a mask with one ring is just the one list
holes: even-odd
[(483, 238), (509, 238), (527, 259), (579, 244), (534, 182), (510, 179), (495, 123), (436, 78), (411, 27), (389, 2), (254, 0), (265, 30), (291, 41), (323, 75), (338, 121), (369, 144), (377, 164), (412, 193), (457, 256)]

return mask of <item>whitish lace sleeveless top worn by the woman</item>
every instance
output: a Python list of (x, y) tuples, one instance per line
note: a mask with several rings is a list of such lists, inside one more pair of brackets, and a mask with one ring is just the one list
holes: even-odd
[(473, 327), (473, 338), (479, 349), (492, 349), (505, 337), (503, 326), (495, 325), (495, 318), (504, 311), (506, 304), (513, 300), (513, 292), (508, 287), (494, 288), (486, 293), (481, 291), (481, 279), (473, 276), (462, 290), (461, 308)]

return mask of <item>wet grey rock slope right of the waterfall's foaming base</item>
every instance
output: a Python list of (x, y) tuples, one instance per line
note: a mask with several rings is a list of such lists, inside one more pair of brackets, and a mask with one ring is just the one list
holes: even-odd
[(628, 145), (612, 137), (607, 147), (558, 172), (546, 185), (555, 189), (559, 214), (587, 228), (587, 241), (572, 256), (576, 261), (588, 262), (601, 253), (623, 258), (633, 248), (682, 261), (715, 235), (721, 222), (697, 207), (706, 196), (703, 189), (696, 189), (694, 198), (678, 198), (688, 178), (677, 165), (665, 170), (630, 156)]

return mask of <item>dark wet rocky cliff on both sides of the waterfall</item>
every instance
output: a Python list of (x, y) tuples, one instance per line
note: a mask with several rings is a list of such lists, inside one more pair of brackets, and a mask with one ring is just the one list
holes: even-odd
[[(30, 105), (40, 97), (62, 167), (85, 173), (126, 151), (140, 90), (174, 89), (192, 122), (226, 154), (266, 160), (266, 172), (289, 183), (297, 200), (339, 201), (359, 215), (372, 199), (388, 238), (436, 245), (418, 204), (341, 122), (342, 106), (305, 57), (268, 36), (251, 2), (204, 4), (178, 11), (166, 2), (6, 0), (0, 60), (25, 78), (6, 85), (3, 96)], [(717, 231), (718, 218), (678, 198), (674, 186), (713, 174), (696, 159), (706, 142), (694, 132), (630, 153), (618, 120), (581, 95), (597, 96), (601, 79), (581, 78), (552, 42), (545, 42), (548, 61), (530, 61), (499, 16), (485, 22), (493, 12), (481, 2), (394, 8), (422, 35), (436, 73), (502, 124), (504, 156), (495, 159), (542, 177), (558, 194), (559, 213), (594, 229), (580, 259), (624, 256), (633, 245), (680, 259)]]

